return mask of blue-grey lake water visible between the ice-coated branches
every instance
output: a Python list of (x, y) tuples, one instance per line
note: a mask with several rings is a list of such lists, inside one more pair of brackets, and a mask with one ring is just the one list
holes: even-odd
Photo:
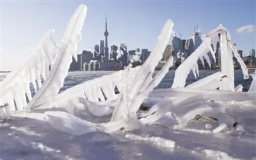
[[(96, 72), (68, 72), (68, 76), (65, 78), (64, 86), (61, 88), (60, 92), (75, 86), (76, 84), (83, 83), (84, 81), (88, 81), (90, 79), (95, 79), (97, 77), (104, 76), (106, 74), (111, 74), (114, 71), (96, 71)], [(205, 76), (209, 76), (217, 72), (216, 70), (200, 70), (199, 77), (195, 79), (192, 72), (189, 74), (186, 83), (190, 84), (198, 79), (202, 79)], [(0, 80), (2, 81), (4, 77), (6, 77), (8, 73), (0, 73)], [(162, 79), (161, 83), (157, 86), (157, 88), (170, 88), (173, 83), (173, 78), (175, 75), (174, 70), (170, 70), (166, 76)], [(250, 84), (252, 83), (252, 77), (250, 79), (243, 79), (243, 73), (241, 71), (235, 71), (235, 85), (242, 84), (243, 91), (247, 91), (250, 88)]]

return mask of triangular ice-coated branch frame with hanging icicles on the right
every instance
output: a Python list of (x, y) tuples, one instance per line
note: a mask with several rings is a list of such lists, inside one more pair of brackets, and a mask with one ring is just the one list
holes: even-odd
[[(220, 37), (219, 37), (220, 35)], [(172, 88), (184, 88), (186, 84), (186, 78), (189, 72), (192, 70), (194, 76), (199, 75), (199, 69), (197, 60), (199, 59), (204, 65), (204, 59), (207, 61), (209, 67), (211, 68), (211, 61), (209, 58), (209, 52), (212, 58), (216, 61), (215, 52), (217, 49), (217, 43), (220, 43), (221, 52), (221, 70), (220, 73), (208, 77), (207, 80), (204, 79), (203, 84), (212, 84), (212, 82), (219, 83), (218, 85), (212, 86), (212, 89), (220, 88), (221, 90), (231, 90), (234, 91), (234, 65), (233, 65), (233, 55), (239, 62), (244, 79), (248, 79), (248, 69), (244, 65), (243, 60), (239, 56), (236, 46), (232, 44), (230, 40), (230, 35), (226, 28), (219, 26), (218, 28), (212, 30), (208, 35), (202, 36), (202, 44), (193, 52), (187, 59), (182, 63), (175, 71), (175, 77), (173, 79)], [(213, 47), (212, 47), (213, 46)], [(202, 84), (201, 82), (197, 82)], [(204, 85), (200, 87), (204, 88)]]

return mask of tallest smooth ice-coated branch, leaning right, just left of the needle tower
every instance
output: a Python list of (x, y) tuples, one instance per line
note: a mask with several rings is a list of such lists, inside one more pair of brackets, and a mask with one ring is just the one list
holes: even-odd
[(86, 11), (86, 6), (81, 4), (71, 17), (65, 35), (61, 40), (60, 48), (57, 51), (58, 55), (56, 56), (49, 78), (29, 102), (26, 107), (27, 109), (32, 109), (44, 102), (49, 102), (52, 97), (58, 94), (61, 86), (63, 86), (69, 65), (72, 62), (72, 56), (76, 58), (77, 43), (81, 41), (81, 30), (83, 28), (84, 18), (86, 17)]

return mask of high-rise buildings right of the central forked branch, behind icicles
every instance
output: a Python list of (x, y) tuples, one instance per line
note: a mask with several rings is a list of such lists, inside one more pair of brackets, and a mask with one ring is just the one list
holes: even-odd
[[(178, 37), (177, 35), (175, 35), (173, 37), (173, 41), (172, 44), (168, 45), (166, 47), (166, 50), (164, 51), (164, 55), (163, 55), (163, 63), (164, 61), (166, 61), (169, 57), (170, 54), (172, 54), (174, 60), (173, 60), (173, 68), (177, 68), (179, 67), (179, 65), (186, 60), (186, 58), (188, 58), (188, 56), (191, 55), (191, 53), (193, 53), (199, 46), (200, 44), (202, 44), (202, 39), (201, 39), (202, 35), (200, 33), (200, 31), (198, 31), (198, 27), (197, 29), (195, 28), (195, 32), (189, 36), (188, 39), (181, 39), (180, 37)], [(236, 45), (236, 44), (235, 44)], [(210, 52), (208, 53), (210, 61), (211, 61), (211, 68), (212, 69), (219, 69), (220, 68), (220, 43), (218, 42), (216, 44), (216, 46), (212, 45), (212, 48), (216, 47), (216, 49), (214, 49), (215, 52), (215, 57), (216, 57), (216, 62), (214, 62), (214, 59), (212, 58), (212, 55), (210, 54)], [(245, 65), (249, 68), (255, 68), (256, 67), (256, 58), (255, 58), (255, 49), (251, 49), (249, 52), (249, 56), (243, 56), (243, 51), (242, 50), (238, 50), (237, 51), (241, 58), (243, 59)], [(206, 63), (206, 60), (204, 60)], [(159, 64), (161, 67), (162, 65)], [(234, 66), (236, 68), (239, 68), (240, 65), (238, 63), (238, 61), (236, 60), (236, 58), (234, 58)], [(198, 61), (198, 67), (199, 68), (210, 68), (208, 65), (203, 66), (201, 61)]]

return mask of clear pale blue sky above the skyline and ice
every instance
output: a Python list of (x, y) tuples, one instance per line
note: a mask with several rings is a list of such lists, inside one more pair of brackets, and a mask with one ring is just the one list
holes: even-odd
[[(128, 50), (152, 51), (167, 19), (174, 30), (187, 38), (199, 25), (202, 34), (223, 24), (243, 54), (255, 49), (256, 1), (2, 1), (1, 69), (12, 70), (31, 54), (45, 31), (54, 29), (56, 40), (63, 36), (68, 20), (81, 3), (88, 7), (77, 52), (91, 50), (104, 40), (105, 12), (110, 45), (127, 44)], [(250, 26), (250, 31), (237, 29)], [(253, 29), (253, 31), (252, 31)], [(243, 29), (242, 29), (243, 30)]]

